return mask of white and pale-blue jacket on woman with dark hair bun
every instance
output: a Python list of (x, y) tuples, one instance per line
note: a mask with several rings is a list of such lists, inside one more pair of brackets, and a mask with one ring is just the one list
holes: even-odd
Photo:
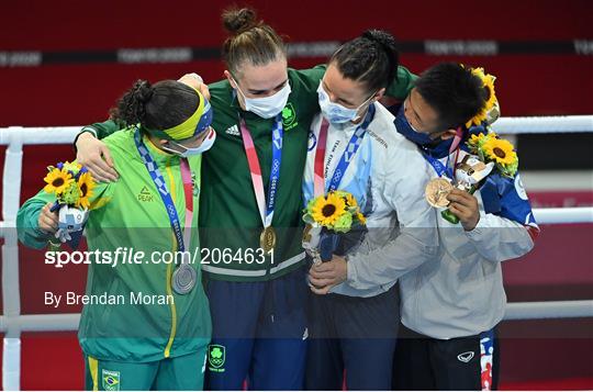
[[(393, 114), (380, 103), (374, 108), (374, 117), (338, 188), (357, 199), (369, 228), (356, 255), (348, 256), (348, 280), (332, 290), (350, 296), (388, 291), (399, 277), (434, 259), (438, 248), (436, 214), (423, 197), (430, 179), (429, 167), (416, 145), (396, 132)], [(321, 124), (318, 114), (310, 133), (303, 181), (305, 203), (314, 197)], [(358, 125), (329, 125), (324, 161), (326, 187)], [(387, 244), (390, 246), (385, 253)], [(372, 260), (358, 256), (371, 250), (377, 253)]]

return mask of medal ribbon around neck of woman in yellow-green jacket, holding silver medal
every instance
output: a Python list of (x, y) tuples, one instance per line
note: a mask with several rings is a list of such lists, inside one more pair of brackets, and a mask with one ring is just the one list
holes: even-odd
[[(146, 169), (148, 170), (148, 173), (150, 175), (150, 178), (153, 179), (153, 182), (155, 183), (158, 193), (160, 194), (160, 199), (163, 200), (165, 209), (167, 210), (167, 215), (169, 215), (169, 222), (174, 229), (175, 238), (177, 240), (177, 250), (183, 251), (186, 250), (184, 244), (189, 245), (190, 243), (191, 224), (193, 220), (193, 192), (191, 184), (191, 171), (188, 160), (181, 158), (181, 177), (183, 179), (183, 192), (186, 195), (186, 227), (182, 233), (181, 225), (179, 224), (179, 216), (177, 214), (177, 209), (175, 208), (171, 194), (167, 189), (163, 175), (158, 170), (158, 166), (150, 156), (148, 148), (146, 148), (146, 145), (142, 141), (138, 130), (136, 130), (136, 132), (134, 133), (134, 142), (136, 142), (136, 148), (138, 149), (142, 161), (144, 163), (144, 166), (146, 166)], [(186, 261), (189, 260), (186, 260), (186, 258), (183, 258), (182, 262), (186, 264)]]

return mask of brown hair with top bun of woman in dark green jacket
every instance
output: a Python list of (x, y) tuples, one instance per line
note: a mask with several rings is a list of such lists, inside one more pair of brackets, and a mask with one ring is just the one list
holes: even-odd
[(231, 74), (239, 74), (245, 61), (259, 66), (286, 57), (282, 38), (264, 21), (257, 20), (253, 9), (227, 9), (222, 13), (222, 21), (230, 34), (222, 54)]

